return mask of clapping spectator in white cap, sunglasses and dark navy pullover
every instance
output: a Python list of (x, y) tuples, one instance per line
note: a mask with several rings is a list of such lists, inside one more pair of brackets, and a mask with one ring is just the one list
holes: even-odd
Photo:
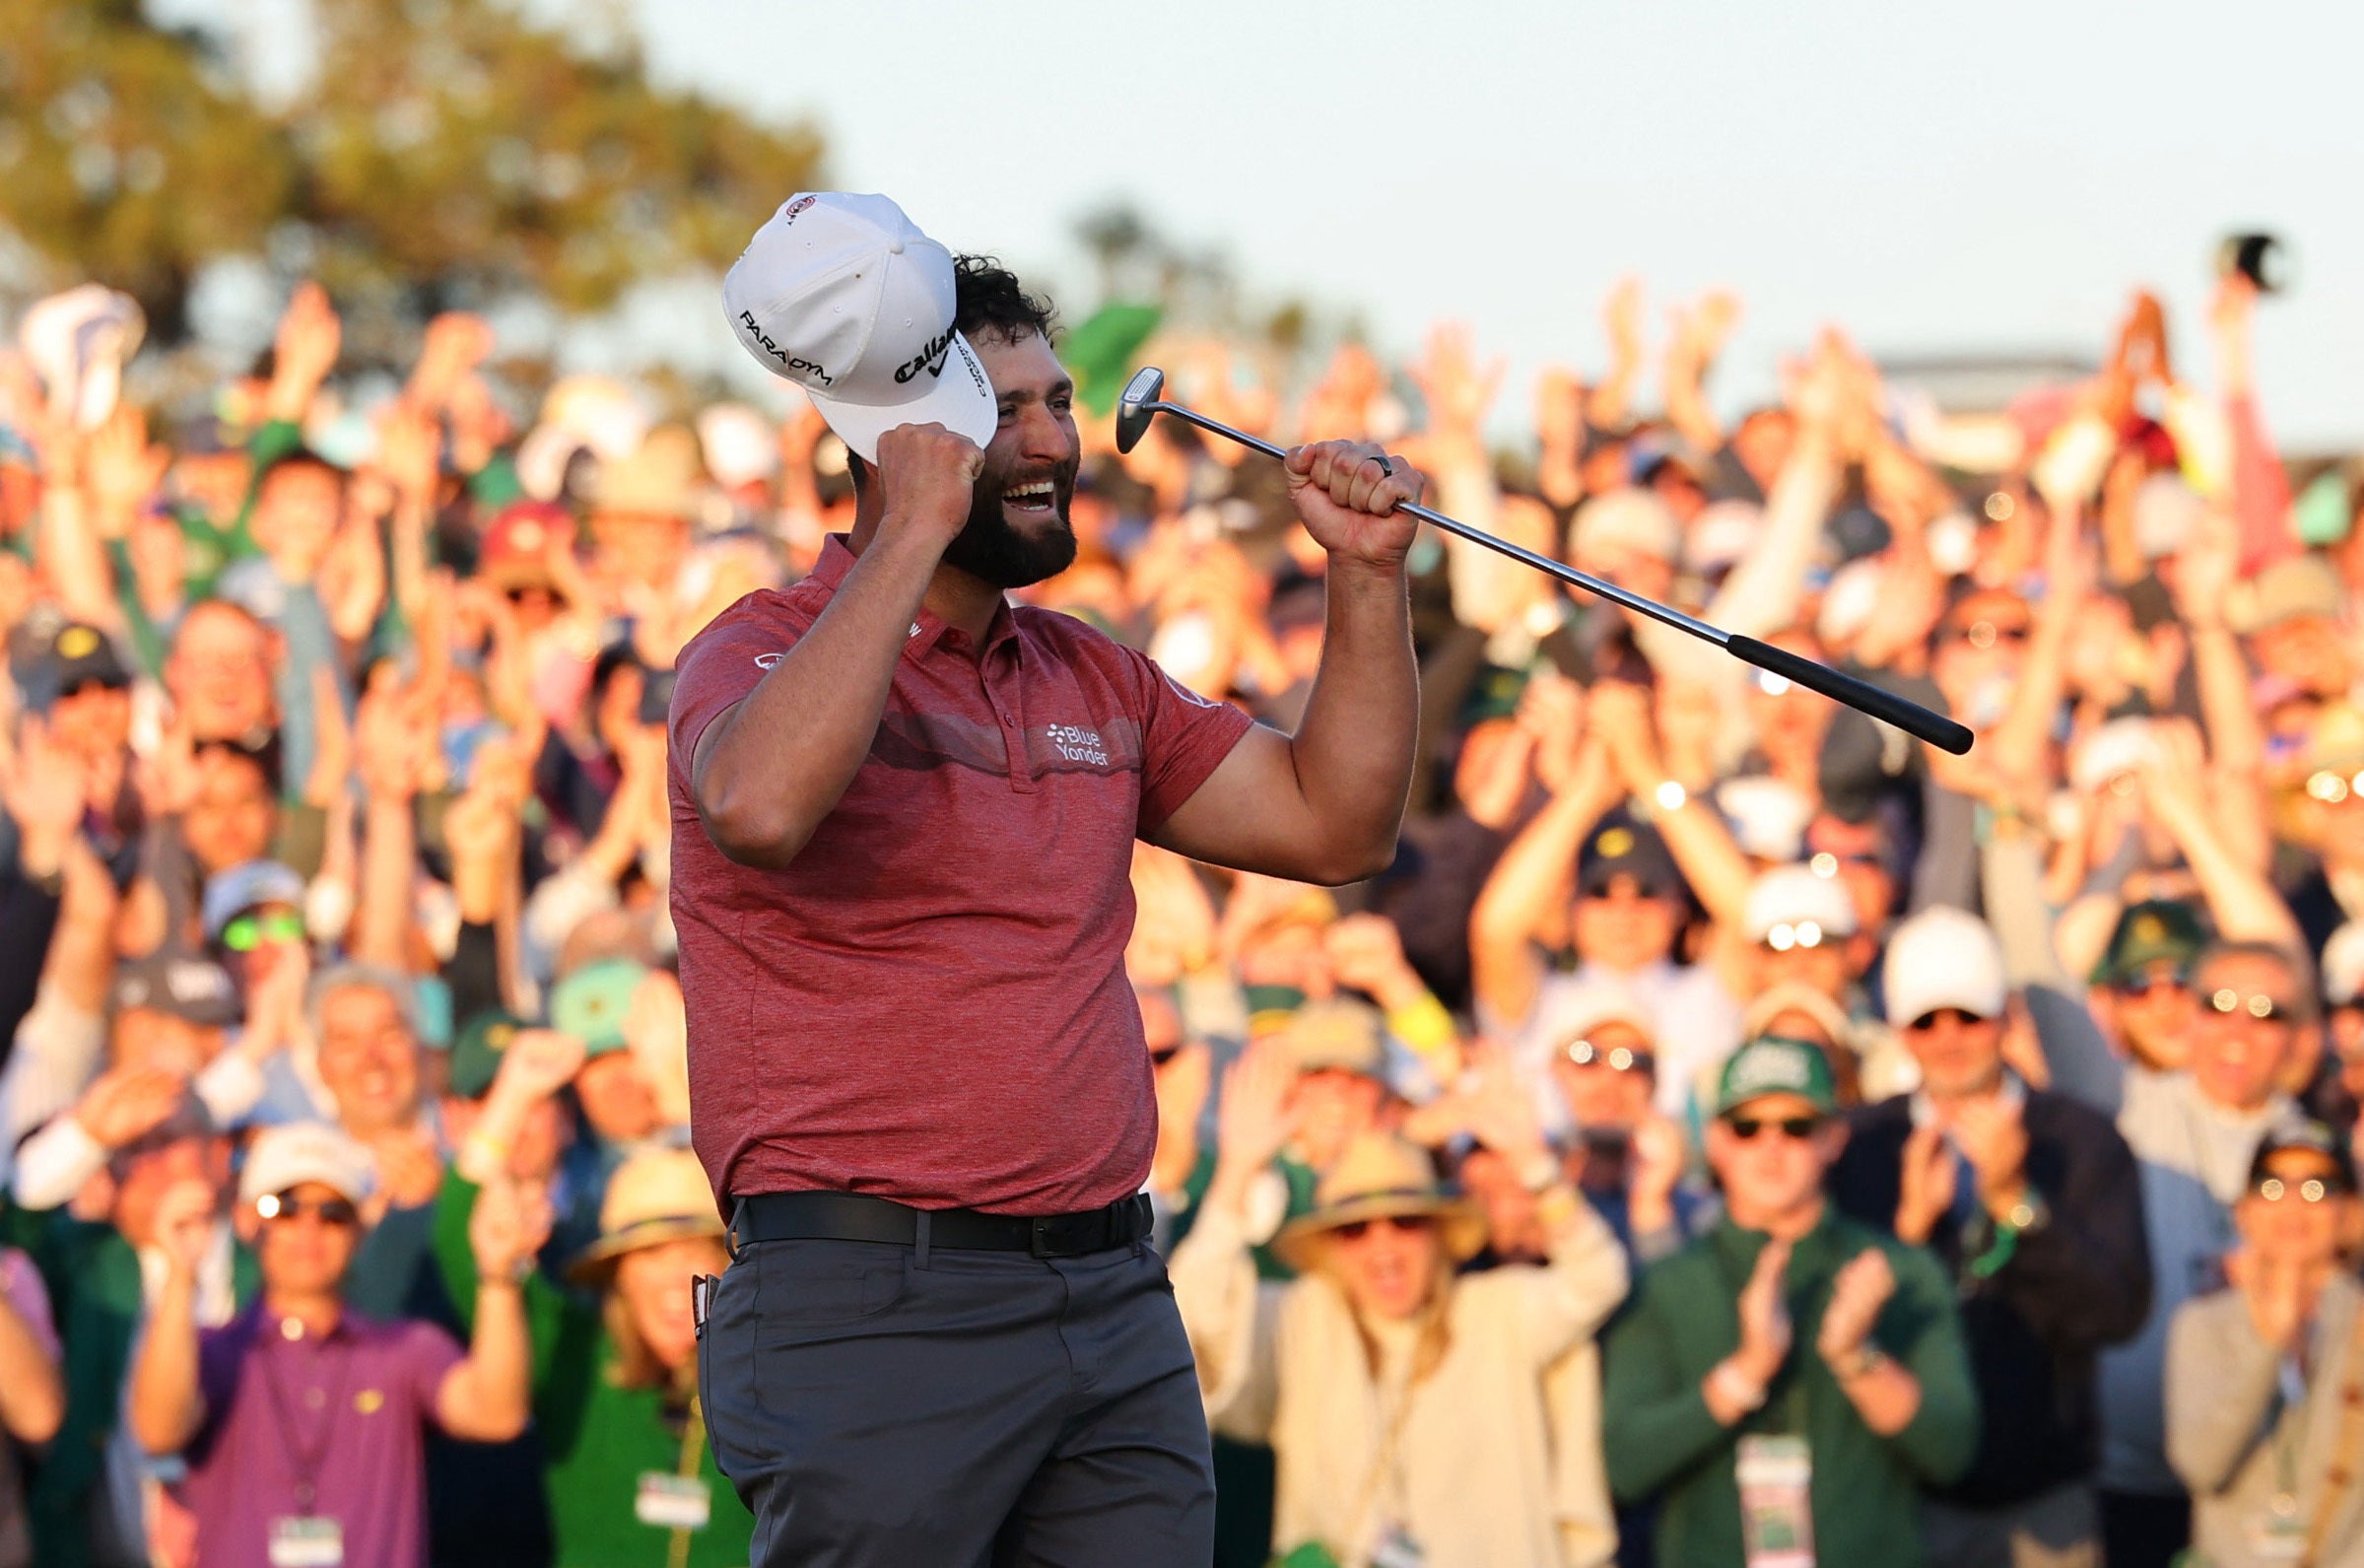
[(1920, 1088), (1851, 1116), (1832, 1201), (1927, 1246), (1955, 1282), (1983, 1424), (1924, 1499), (1929, 1563), (2097, 1563), (2095, 1355), (2142, 1327), (2135, 1156), (2106, 1116), (2002, 1060), (2002, 946), (1936, 906), (1896, 927), (1884, 993)]

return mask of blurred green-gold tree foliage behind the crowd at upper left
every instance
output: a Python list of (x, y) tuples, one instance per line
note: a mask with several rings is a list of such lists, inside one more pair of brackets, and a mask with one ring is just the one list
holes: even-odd
[(312, 88), (265, 109), (220, 45), (135, 0), (12, 0), (0, 227), (175, 336), (206, 258), (272, 251), (416, 319), (726, 265), (813, 182), (820, 137), (650, 80), (629, 33), (586, 47), (501, 0), (317, 0)]

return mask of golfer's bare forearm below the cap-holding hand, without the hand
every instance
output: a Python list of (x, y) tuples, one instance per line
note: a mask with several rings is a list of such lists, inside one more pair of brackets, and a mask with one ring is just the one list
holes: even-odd
[(700, 738), (697, 816), (742, 866), (785, 868), (870, 754), (941, 544), (882, 532), (811, 631)]

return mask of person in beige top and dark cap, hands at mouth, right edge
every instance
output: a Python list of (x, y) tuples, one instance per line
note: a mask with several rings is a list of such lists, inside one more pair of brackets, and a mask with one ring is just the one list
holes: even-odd
[(2340, 1265), (2355, 1223), (2347, 1140), (2321, 1123), (2272, 1133), (2234, 1204), (2229, 1289), (2175, 1310), (2168, 1459), (2206, 1563), (2364, 1556), (2364, 1291)]

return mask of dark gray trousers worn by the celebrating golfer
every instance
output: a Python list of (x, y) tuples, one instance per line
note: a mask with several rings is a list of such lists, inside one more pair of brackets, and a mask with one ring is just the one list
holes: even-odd
[(740, 1246), (697, 1358), (754, 1568), (1206, 1568), (1215, 1478), (1165, 1263)]

